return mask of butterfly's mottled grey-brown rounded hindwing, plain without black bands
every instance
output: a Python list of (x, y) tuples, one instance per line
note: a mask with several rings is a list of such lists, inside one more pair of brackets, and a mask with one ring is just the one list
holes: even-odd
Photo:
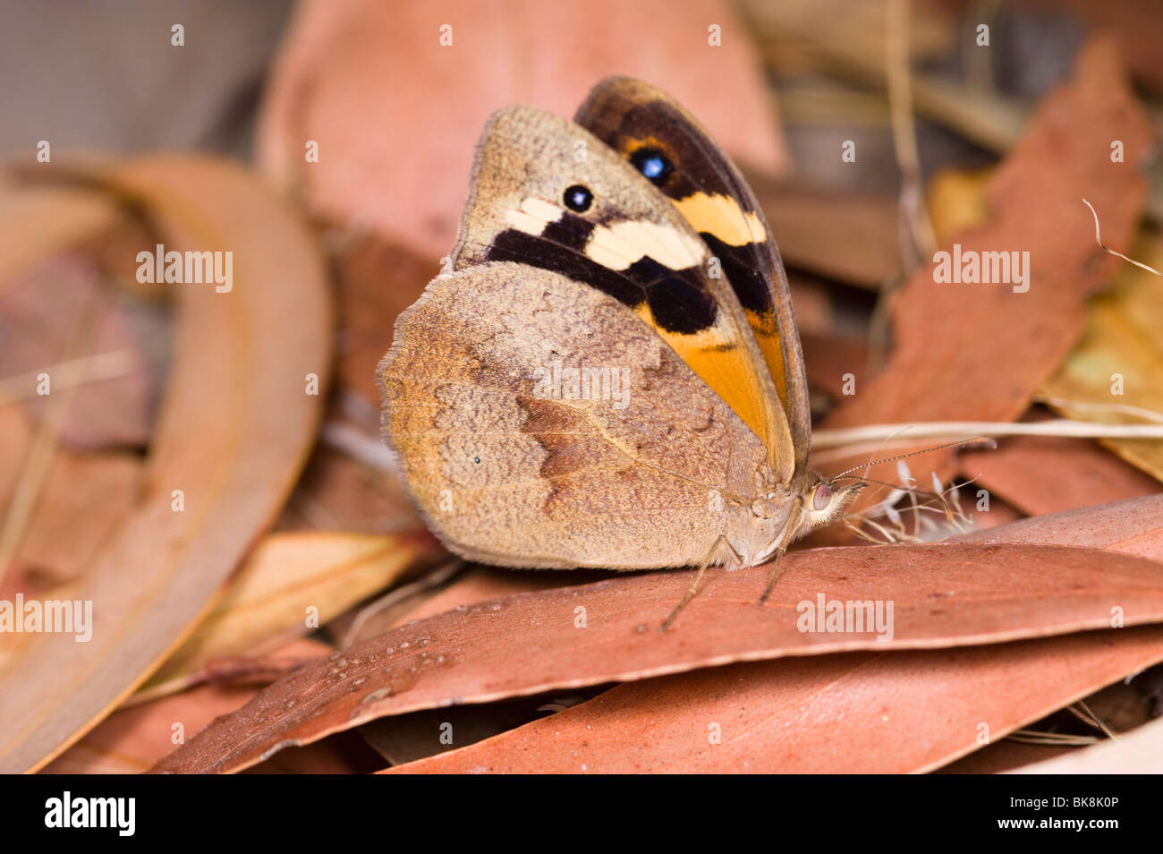
[[(571, 392), (594, 365), (608, 398)], [(748, 489), (766, 454), (620, 301), (528, 264), (433, 279), (378, 378), (413, 501), (486, 563), (697, 563), (732, 518), (714, 496)]]

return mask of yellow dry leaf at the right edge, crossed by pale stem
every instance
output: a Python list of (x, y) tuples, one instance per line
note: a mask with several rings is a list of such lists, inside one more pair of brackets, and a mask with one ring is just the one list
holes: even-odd
[[(1103, 242), (1106, 216), (1100, 213)], [(1143, 241), (1141, 250), (1128, 252), (1156, 270), (1163, 270), (1163, 240)], [(1082, 343), (1062, 365), (1057, 376), (1042, 387), (1048, 397), (1070, 403), (1051, 405), (1064, 415), (1079, 420), (1140, 424), (1122, 413), (1101, 413), (1086, 408), (1135, 406), (1163, 418), (1163, 278), (1123, 264), (1111, 293), (1094, 300), (1090, 325)], [(1104, 439), (1104, 446), (1128, 463), (1163, 481), (1163, 442), (1151, 440)]]

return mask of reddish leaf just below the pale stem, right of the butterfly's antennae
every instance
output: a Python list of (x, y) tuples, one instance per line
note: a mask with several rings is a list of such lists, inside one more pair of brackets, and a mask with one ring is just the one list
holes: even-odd
[(962, 451), (958, 464), (984, 488), (1029, 515), (1151, 496), (1160, 484), (1085, 439), (1012, 436), (997, 450)]

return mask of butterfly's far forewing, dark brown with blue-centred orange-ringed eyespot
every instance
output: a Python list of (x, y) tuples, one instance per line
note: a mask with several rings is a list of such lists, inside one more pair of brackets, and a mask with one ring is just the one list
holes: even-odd
[(784, 406), (799, 471), (811, 411), (799, 333), (779, 250), (747, 182), (677, 101), (625, 77), (599, 83), (576, 121), (665, 194), (719, 259)]

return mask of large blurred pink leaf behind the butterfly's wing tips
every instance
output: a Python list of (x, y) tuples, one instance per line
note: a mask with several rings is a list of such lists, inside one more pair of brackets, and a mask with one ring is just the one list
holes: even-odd
[[(712, 24), (720, 47), (708, 44)], [(258, 162), (302, 186), (322, 219), (436, 259), (455, 241), (490, 113), (521, 102), (572, 116), (612, 70), (664, 86), (742, 161), (787, 166), (755, 48), (721, 0), (302, 2), (267, 86)], [(306, 162), (307, 141), (317, 163)]]

